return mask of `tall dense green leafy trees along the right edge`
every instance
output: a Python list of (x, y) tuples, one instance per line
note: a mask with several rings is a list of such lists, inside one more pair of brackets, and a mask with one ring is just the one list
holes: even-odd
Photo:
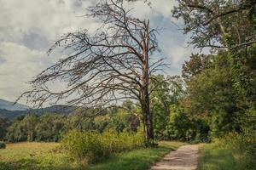
[(187, 95), (181, 104), (207, 122), (211, 137), (244, 132), (244, 120), (251, 125), (255, 120), (247, 112), (255, 111), (256, 102), (256, 2), (177, 2), (173, 16), (183, 19), (184, 33), (192, 33), (190, 43), (212, 49), (211, 54), (192, 54), (183, 65)]

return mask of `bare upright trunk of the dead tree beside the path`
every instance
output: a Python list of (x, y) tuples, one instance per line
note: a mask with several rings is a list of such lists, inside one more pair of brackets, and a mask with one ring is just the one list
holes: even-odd
[[(145, 21), (146, 22), (146, 21)], [(149, 66), (148, 66), (148, 26), (147, 21), (146, 30), (142, 32), (143, 39), (143, 77), (142, 77), (142, 110), (143, 110), (143, 123), (144, 123), (144, 135), (147, 145), (151, 145), (154, 140), (154, 129), (153, 129), (153, 115), (150, 112), (149, 107)]]

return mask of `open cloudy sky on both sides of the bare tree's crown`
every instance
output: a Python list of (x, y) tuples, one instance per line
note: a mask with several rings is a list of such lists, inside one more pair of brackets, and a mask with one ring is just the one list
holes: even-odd
[[(94, 30), (96, 20), (85, 18), (85, 8), (95, 0), (0, 0), (0, 99), (14, 101), (30, 89), (27, 82), (53, 65), (61, 54), (48, 56), (47, 50), (63, 33)], [(163, 29), (158, 36), (161, 55), (170, 63), (168, 75), (180, 74), (183, 61), (196, 51), (187, 48), (189, 36), (178, 29), (182, 20), (172, 18), (173, 0), (126, 3), (137, 18), (148, 18), (151, 26)], [(59, 86), (59, 85), (55, 85)], [(20, 100), (24, 104), (25, 100)]]

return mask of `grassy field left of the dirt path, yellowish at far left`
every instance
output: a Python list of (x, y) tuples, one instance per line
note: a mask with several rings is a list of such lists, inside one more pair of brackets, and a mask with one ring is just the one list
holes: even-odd
[(160, 142), (159, 147), (131, 150), (113, 154), (108, 159), (93, 165), (73, 162), (65, 153), (61, 153), (56, 143), (19, 143), (7, 144), (0, 150), (0, 170), (34, 169), (95, 169), (95, 170), (146, 170), (155, 161), (182, 143)]

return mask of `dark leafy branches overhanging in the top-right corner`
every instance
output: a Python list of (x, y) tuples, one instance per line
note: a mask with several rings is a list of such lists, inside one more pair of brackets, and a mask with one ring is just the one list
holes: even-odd
[(255, 41), (255, 8), (255, 0), (177, 0), (172, 15), (183, 20), (183, 31), (195, 47), (239, 50)]

